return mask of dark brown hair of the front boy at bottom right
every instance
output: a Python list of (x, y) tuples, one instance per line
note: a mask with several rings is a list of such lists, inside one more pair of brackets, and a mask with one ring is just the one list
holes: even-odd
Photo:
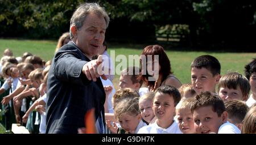
[(201, 92), (199, 95), (196, 95), (196, 99), (191, 106), (191, 112), (193, 113), (194, 110), (204, 106), (212, 106), (213, 112), (216, 112), (218, 117), (226, 110), (221, 98), (217, 94), (209, 91)]

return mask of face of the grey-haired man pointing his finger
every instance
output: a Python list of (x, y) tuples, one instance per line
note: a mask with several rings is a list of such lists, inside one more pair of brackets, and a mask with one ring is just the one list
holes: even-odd
[(101, 16), (88, 14), (80, 29), (73, 33), (76, 45), (86, 57), (91, 59), (98, 54), (105, 39), (106, 22)]

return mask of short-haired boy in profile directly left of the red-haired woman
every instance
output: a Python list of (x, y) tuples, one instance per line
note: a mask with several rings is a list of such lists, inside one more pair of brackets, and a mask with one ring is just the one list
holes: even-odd
[(119, 88), (132, 88), (139, 92), (139, 96), (149, 92), (148, 88), (142, 87), (143, 80), (139, 79), (139, 67), (131, 66), (122, 70), (119, 78)]

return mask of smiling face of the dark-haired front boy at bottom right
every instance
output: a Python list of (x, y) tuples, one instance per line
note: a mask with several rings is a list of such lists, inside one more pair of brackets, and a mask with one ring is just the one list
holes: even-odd
[(193, 112), (196, 133), (209, 134), (211, 132), (218, 133), (218, 128), (226, 122), (226, 118), (221, 114), (218, 117), (216, 112), (213, 112), (212, 106), (202, 106)]

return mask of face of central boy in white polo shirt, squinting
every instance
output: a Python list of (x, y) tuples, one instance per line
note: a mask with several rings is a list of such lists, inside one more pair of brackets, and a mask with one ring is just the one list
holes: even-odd
[(153, 105), (154, 114), (158, 120), (172, 122), (174, 120), (174, 98), (167, 93), (155, 94)]

